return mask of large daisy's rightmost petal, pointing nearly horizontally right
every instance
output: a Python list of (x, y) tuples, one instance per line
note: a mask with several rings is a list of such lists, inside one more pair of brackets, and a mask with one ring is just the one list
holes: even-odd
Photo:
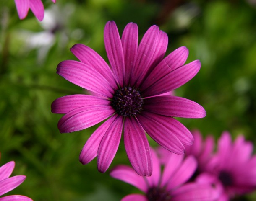
[(206, 111), (198, 103), (177, 96), (156, 96), (144, 99), (144, 110), (165, 116), (202, 118)]

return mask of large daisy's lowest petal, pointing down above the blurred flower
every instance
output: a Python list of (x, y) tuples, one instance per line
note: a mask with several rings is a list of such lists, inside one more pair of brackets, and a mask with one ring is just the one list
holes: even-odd
[(149, 142), (141, 125), (134, 118), (125, 119), (124, 143), (128, 159), (136, 173), (141, 176), (150, 176), (152, 159)]

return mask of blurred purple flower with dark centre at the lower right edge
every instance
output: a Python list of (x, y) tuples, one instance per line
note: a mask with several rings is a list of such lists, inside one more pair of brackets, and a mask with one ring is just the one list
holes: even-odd
[(217, 153), (208, 164), (207, 173), (201, 174), (200, 183), (212, 183), (221, 196), (218, 201), (229, 201), (235, 195), (243, 195), (256, 189), (256, 155), (253, 144), (242, 135), (232, 143), (228, 132), (219, 138)]

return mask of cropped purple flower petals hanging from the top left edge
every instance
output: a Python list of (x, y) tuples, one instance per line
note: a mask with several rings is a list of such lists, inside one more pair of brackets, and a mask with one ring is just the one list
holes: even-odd
[[(29, 8), (39, 21), (44, 19), (44, 5), (41, 0), (14, 0), (21, 20), (26, 18)], [(56, 0), (52, 0), (56, 3)]]

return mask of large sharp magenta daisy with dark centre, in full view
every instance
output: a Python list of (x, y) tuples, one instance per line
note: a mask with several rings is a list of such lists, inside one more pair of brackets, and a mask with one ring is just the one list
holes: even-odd
[[(191, 80), (199, 60), (184, 65), (188, 49), (180, 47), (163, 59), (167, 34), (158, 26), (146, 31), (138, 46), (138, 27), (129, 23), (120, 39), (115, 22), (107, 22), (104, 43), (109, 65), (94, 50), (76, 44), (71, 52), (81, 61), (63, 61), (57, 73), (66, 80), (101, 96), (68, 95), (52, 103), (53, 113), (64, 113), (61, 133), (79, 131), (107, 118), (88, 139), (80, 154), (82, 164), (97, 156), (98, 170), (105, 172), (117, 152), (122, 130), (128, 158), (139, 175), (151, 175), (152, 160), (144, 131), (158, 144), (183, 154), (183, 144), (193, 136), (174, 117), (201, 118), (199, 104), (176, 96), (161, 95)], [(161, 96), (157, 96), (161, 95)], [(104, 98), (102, 98), (104, 97)]]

